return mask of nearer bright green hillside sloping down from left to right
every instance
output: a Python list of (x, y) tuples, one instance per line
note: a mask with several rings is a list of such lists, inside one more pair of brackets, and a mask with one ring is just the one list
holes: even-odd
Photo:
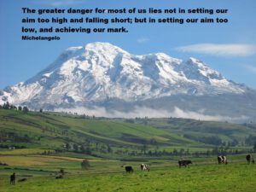
[(104, 150), (136, 151), (145, 145), (147, 148), (165, 148), (181, 144), (184, 147), (199, 144), (189, 138), (153, 126), (56, 113), (24, 113), (2, 109), (0, 128), (2, 148), (14, 145), (16, 148), (78, 152), (90, 148), (97, 154)]

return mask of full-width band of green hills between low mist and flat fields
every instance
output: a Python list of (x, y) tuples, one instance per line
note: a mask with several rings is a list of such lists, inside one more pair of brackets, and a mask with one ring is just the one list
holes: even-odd
[(121, 159), (253, 148), (256, 125), (194, 119), (106, 119), (0, 109), (1, 148), (39, 148)]

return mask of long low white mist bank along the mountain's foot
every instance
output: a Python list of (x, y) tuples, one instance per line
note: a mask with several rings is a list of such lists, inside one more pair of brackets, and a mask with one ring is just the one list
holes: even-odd
[(221, 115), (207, 115), (203, 113), (203, 109), (200, 112), (193, 111), (183, 111), (180, 108), (175, 107), (172, 112), (161, 109), (153, 109), (153, 108), (141, 108), (137, 107), (133, 111), (130, 112), (119, 112), (116, 110), (107, 111), (106, 108), (58, 108), (55, 109), (56, 112), (64, 112), (68, 111), (71, 113), (79, 113), (86, 115), (95, 115), (96, 117), (108, 117), (108, 118), (168, 118), (168, 117), (176, 117), (176, 118), (185, 118), (185, 119), (201, 119), (201, 120), (213, 120), (213, 121), (230, 121), (230, 122), (239, 122), (241, 120), (247, 119), (246, 116), (241, 117), (228, 117)]

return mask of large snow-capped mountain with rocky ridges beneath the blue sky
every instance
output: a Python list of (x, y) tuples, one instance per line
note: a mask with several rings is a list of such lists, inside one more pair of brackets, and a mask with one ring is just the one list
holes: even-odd
[[(143, 106), (217, 114), (223, 106), (220, 110), (207, 108), (211, 101), (223, 103), (218, 100), (224, 98), (230, 106), (238, 99), (246, 102), (241, 106), (249, 102), (254, 110), (255, 97), (255, 90), (225, 79), (195, 58), (182, 61), (164, 53), (131, 55), (108, 43), (71, 47), (32, 79), (0, 90), (0, 104), (8, 101), (35, 109), (67, 111), (80, 107), (130, 111)], [(233, 116), (226, 110), (221, 113)]]

